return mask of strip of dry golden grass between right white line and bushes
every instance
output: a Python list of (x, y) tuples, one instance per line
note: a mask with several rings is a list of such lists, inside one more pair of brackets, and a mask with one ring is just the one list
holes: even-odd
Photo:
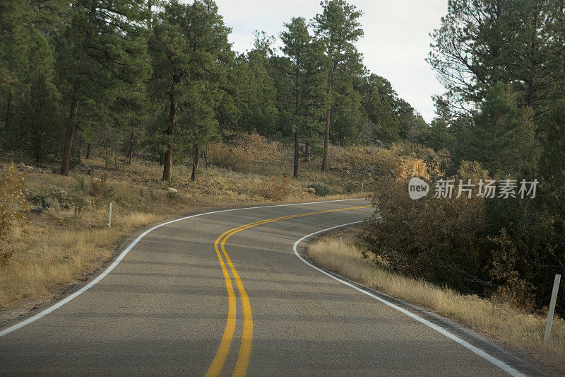
[(330, 233), (309, 246), (309, 256), (319, 265), (347, 279), (374, 287), (391, 296), (432, 311), (491, 335), (534, 359), (565, 373), (565, 321), (555, 318), (549, 342), (543, 341), (546, 318), (477, 296), (462, 295), (422, 280), (394, 274), (362, 257), (355, 230), (346, 231), (338, 253), (339, 234)]

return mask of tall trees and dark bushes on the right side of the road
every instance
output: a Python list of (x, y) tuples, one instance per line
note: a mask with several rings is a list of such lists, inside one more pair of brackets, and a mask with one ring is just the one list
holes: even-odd
[[(411, 201), (405, 185), (381, 182), (371, 250), (403, 272), (544, 308), (565, 273), (565, 3), (452, 0), (432, 37), (428, 61), (447, 88), (431, 125), (443, 157), (432, 180), (516, 180), (515, 197), (475, 187), (471, 199)], [(535, 197), (521, 198), (523, 179), (537, 180)]]

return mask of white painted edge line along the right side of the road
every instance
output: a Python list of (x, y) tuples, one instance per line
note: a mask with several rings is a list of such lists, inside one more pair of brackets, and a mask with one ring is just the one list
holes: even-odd
[(340, 224), (338, 226), (332, 226), (331, 228), (326, 228), (323, 229), (321, 231), (317, 231), (314, 233), (310, 233), (307, 236), (304, 236), (302, 238), (300, 238), (299, 240), (297, 240), (295, 242), (294, 245), (292, 245), (292, 250), (295, 252), (295, 255), (297, 257), (299, 257), (300, 260), (302, 260), (302, 262), (306, 263), (307, 265), (309, 265), (310, 267), (317, 269), (319, 272), (321, 272), (322, 274), (326, 274), (328, 277), (331, 277), (332, 279), (337, 280), (338, 282), (341, 282), (347, 286), (350, 286), (353, 289), (356, 289), (359, 292), (362, 292), (364, 294), (366, 294), (367, 296), (371, 296), (372, 298), (376, 299), (377, 301), (380, 301), (381, 303), (384, 303), (387, 306), (390, 306), (393, 309), (396, 309), (397, 311), (400, 311), (401, 313), (404, 313), (405, 315), (408, 315), (410, 318), (414, 318), (415, 320), (417, 320), (418, 322), (426, 325), (427, 327), (432, 328), (433, 330), (436, 330), (437, 332), (439, 332), (441, 335), (445, 335), (446, 337), (448, 337), (449, 339), (461, 344), (463, 347), (465, 347), (466, 349), (469, 349), (471, 352), (481, 356), (483, 359), (490, 361), (492, 364), (494, 364), (495, 366), (498, 366), (500, 369), (502, 369), (503, 371), (505, 371), (506, 373), (509, 373), (509, 375), (514, 376), (514, 377), (525, 377), (524, 374), (520, 373), (519, 371), (516, 371), (516, 369), (513, 369), (511, 366), (509, 366), (508, 364), (504, 363), (504, 361), (501, 361), (499, 359), (496, 359), (496, 357), (493, 357), (489, 354), (487, 354), (487, 352), (484, 352), (482, 349), (475, 347), (474, 345), (465, 342), (465, 340), (461, 339), (460, 337), (451, 334), (451, 332), (448, 332), (447, 330), (445, 330), (443, 327), (440, 327), (432, 322), (430, 322), (429, 320), (425, 320), (424, 318), (419, 317), (418, 315), (415, 315), (414, 313), (405, 310), (404, 308), (400, 308), (400, 306), (395, 305), (394, 303), (391, 303), (389, 301), (386, 301), (384, 298), (381, 298), (379, 296), (376, 296), (374, 294), (371, 294), (371, 292), (369, 291), (365, 291), (364, 289), (361, 289), (353, 284), (351, 284), (350, 282), (347, 282), (344, 279), (340, 279), (339, 277), (335, 277), (333, 274), (329, 274), (328, 272), (324, 271), (323, 269), (321, 269), (320, 267), (316, 266), (316, 265), (312, 265), (310, 262), (308, 262), (307, 260), (305, 260), (302, 255), (300, 255), (298, 253), (297, 250), (297, 246), (299, 243), (301, 243), (303, 240), (305, 240), (306, 238), (309, 238), (311, 236), (314, 236), (316, 234), (319, 233), (323, 233), (326, 231), (331, 231), (332, 229), (335, 228), (341, 228), (343, 226), (348, 226), (348, 225), (353, 225), (353, 224), (359, 224), (362, 223), (363, 221), (353, 221), (352, 223), (347, 223), (347, 224)]

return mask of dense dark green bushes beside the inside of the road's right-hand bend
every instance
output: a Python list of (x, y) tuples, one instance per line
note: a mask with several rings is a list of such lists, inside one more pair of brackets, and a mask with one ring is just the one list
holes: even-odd
[[(452, 178), (478, 182), (488, 177), (479, 164), (464, 161), (458, 176)], [(511, 233), (518, 231), (542, 243), (544, 221), (537, 219), (518, 228), (520, 216), (511, 208), (533, 205), (518, 200), (482, 199), (476, 187), (470, 198), (457, 198), (454, 187), (451, 199), (438, 199), (433, 186), (427, 197), (412, 200), (407, 181), (381, 178), (373, 199), (375, 216), (364, 229), (367, 256), (381, 267), (411, 277), (532, 310), (534, 292), (540, 290), (532, 279), (532, 266), (541, 268), (535, 265), (535, 257), (528, 259), (528, 253), (521, 250), (525, 242), (517, 242)], [(500, 222), (489, 215), (493, 206), (495, 213), (512, 216), (515, 224), (500, 228)], [(533, 254), (537, 250), (531, 246), (529, 251), (540, 255)]]

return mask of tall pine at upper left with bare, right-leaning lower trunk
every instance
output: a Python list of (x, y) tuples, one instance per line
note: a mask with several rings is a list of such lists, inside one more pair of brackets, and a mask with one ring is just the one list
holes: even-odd
[(71, 23), (59, 35), (57, 68), (69, 104), (61, 174), (69, 174), (80, 105), (101, 112), (124, 89), (148, 74), (141, 22), (143, 0), (80, 0)]

